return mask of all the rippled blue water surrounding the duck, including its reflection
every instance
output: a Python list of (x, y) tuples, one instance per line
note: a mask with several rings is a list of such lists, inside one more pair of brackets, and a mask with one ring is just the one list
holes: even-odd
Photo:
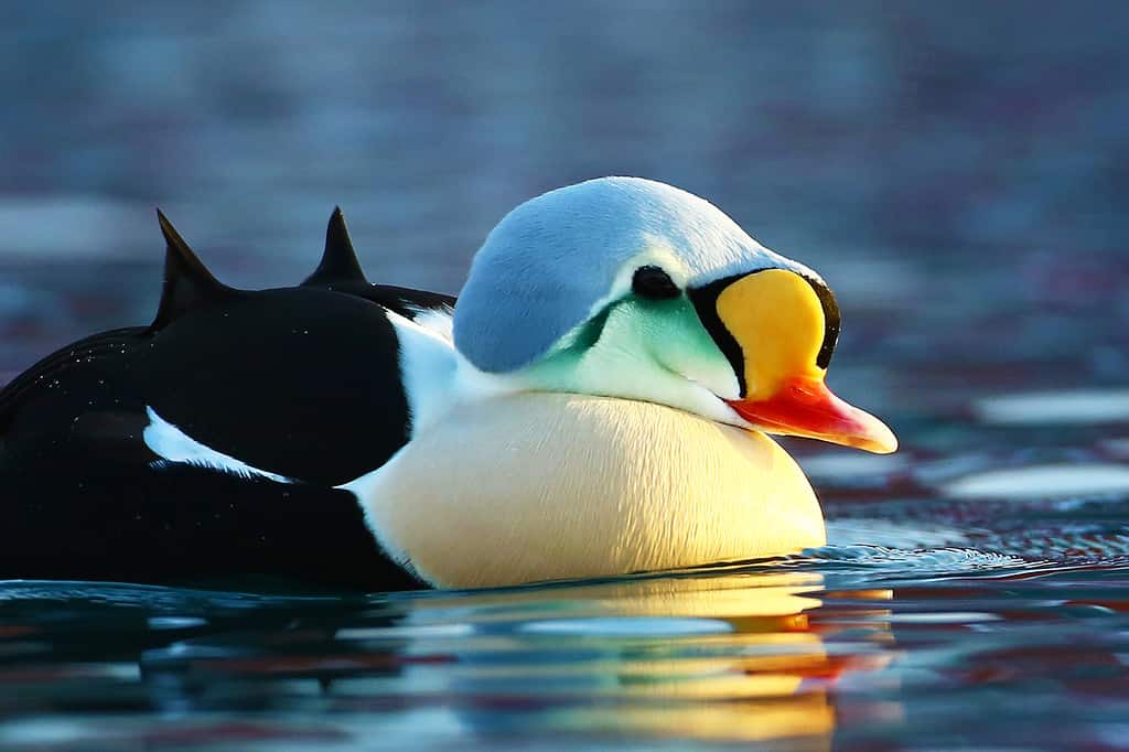
[[(0, 24), (0, 374), (156, 306), (161, 206), (290, 285), (345, 210), (456, 291), (636, 174), (823, 273), (830, 544), (335, 596), (0, 584), (0, 747), (1129, 749), (1129, 30), (1113, 2), (38, 3)], [(0, 375), (0, 378), (3, 376)], [(0, 552), (2, 556), (2, 552)]]

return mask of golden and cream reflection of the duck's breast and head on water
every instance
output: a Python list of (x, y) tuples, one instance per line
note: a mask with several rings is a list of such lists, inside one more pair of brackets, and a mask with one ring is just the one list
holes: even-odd
[[(403, 645), (412, 663), (402, 679), (460, 698), (452, 720), (467, 729), (807, 737), (829, 747), (835, 682), (884, 667), (893, 633), (886, 610), (851, 605), (851, 641), (874, 649), (830, 653), (825, 640), (843, 627), (821, 618), (823, 591), (817, 574), (688, 574), (420, 600), (399, 627), (423, 636)], [(886, 601), (892, 592), (835, 597)], [(449, 631), (455, 622), (457, 635)], [(386, 644), (382, 628), (339, 638)], [(437, 670), (438, 654), (453, 663)], [(367, 694), (380, 683), (349, 681), (331, 691)], [(500, 722), (499, 710), (509, 720)]]

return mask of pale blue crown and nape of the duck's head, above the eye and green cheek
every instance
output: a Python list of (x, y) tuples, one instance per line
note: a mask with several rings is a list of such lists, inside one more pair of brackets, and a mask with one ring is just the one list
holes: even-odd
[(665, 183), (602, 177), (526, 201), (491, 230), (455, 306), (455, 346), (475, 367), (516, 370), (593, 315), (623, 266), (660, 243), (704, 285), (785, 268), (714, 204)]

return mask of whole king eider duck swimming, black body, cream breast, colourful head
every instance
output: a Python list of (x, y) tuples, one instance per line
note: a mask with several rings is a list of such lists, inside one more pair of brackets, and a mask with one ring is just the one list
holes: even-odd
[(812, 270), (640, 178), (514, 209), (454, 298), (370, 285), (340, 211), (300, 286), (212, 277), (160, 216), (148, 326), (0, 393), (0, 577), (479, 587), (824, 544), (768, 434), (892, 452), (824, 375)]

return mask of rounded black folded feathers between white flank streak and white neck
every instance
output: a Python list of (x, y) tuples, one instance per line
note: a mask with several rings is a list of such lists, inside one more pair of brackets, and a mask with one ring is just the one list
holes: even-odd
[(329, 290), (247, 294), (149, 338), (133, 393), (207, 446), (321, 486), (383, 465), (408, 440), (384, 308)]

